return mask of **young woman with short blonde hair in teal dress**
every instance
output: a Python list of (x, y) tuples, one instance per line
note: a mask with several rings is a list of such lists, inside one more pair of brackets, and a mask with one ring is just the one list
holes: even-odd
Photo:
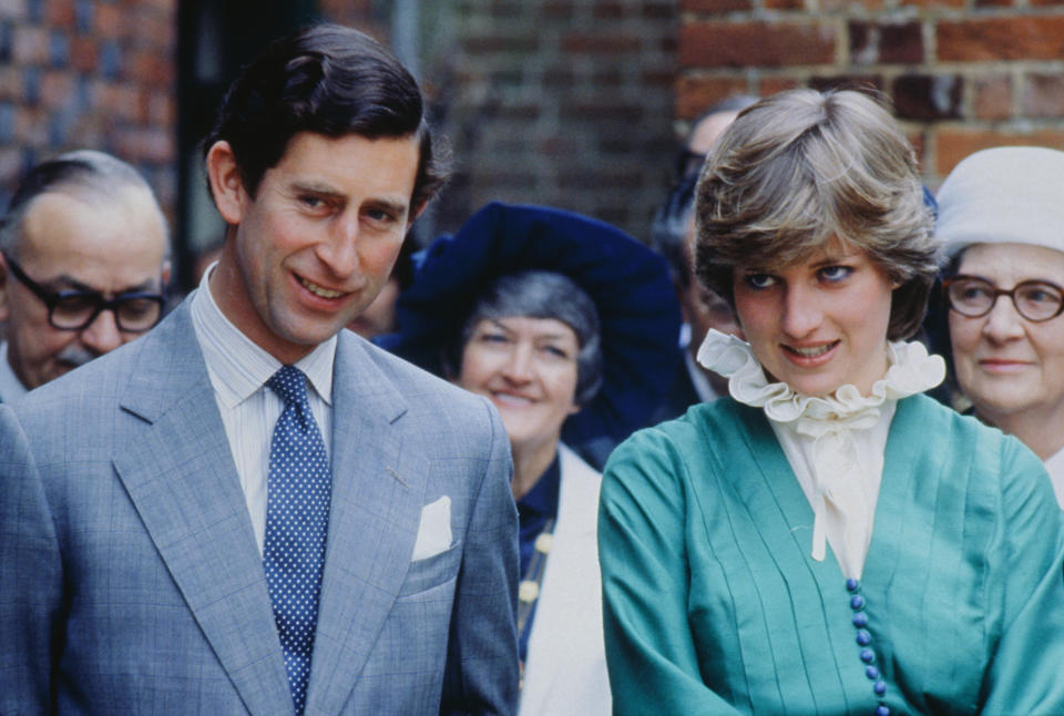
[(744, 112), (697, 197), (699, 279), (747, 341), (730, 399), (606, 466), (615, 714), (1064, 714), (1064, 524), (1039, 459), (922, 391), (938, 268), (912, 150), (876, 99)]

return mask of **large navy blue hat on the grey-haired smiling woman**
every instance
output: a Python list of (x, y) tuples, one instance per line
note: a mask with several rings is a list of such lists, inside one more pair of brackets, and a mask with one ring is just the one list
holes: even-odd
[(530, 269), (564, 274), (598, 311), (602, 389), (565, 421), (562, 440), (624, 440), (647, 423), (668, 390), (681, 317), (664, 259), (608, 224), (555, 208), (489, 204), (429, 246), (396, 304), (399, 333), (376, 340), (443, 375), (443, 348), (481, 293), (499, 276)]

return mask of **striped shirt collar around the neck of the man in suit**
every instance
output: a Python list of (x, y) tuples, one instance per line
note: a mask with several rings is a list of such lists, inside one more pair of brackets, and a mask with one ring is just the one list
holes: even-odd
[[(208, 284), (215, 266), (212, 264), (204, 272), (190, 309), (218, 400), (226, 408), (234, 408), (262, 388), (280, 369), (282, 362), (255, 345), (218, 308)], [(326, 405), (332, 405), (336, 344), (337, 338), (332, 336), (295, 364)]]

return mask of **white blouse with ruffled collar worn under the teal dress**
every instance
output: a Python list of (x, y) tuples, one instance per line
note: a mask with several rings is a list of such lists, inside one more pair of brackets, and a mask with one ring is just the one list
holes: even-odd
[(802, 396), (768, 382), (749, 344), (710, 330), (698, 362), (728, 378), (739, 402), (761, 408), (812, 507), (812, 558), (831, 545), (842, 573), (860, 579), (872, 539), (883, 452), (898, 400), (942, 382), (945, 361), (919, 342), (887, 345), (889, 367), (861, 396), (853, 385), (831, 396)]

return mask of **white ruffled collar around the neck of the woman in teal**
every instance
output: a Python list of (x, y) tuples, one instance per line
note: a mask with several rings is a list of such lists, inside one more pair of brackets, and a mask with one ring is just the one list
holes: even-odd
[(778, 422), (791, 422), (802, 417), (817, 422), (849, 422), (859, 416), (866, 420), (878, 419), (879, 407), (884, 401), (923, 392), (945, 378), (942, 357), (928, 355), (927, 348), (918, 341), (887, 344), (887, 374), (872, 383), (868, 396), (860, 395), (856, 386), (847, 383), (835, 393), (820, 398), (795, 392), (785, 382), (768, 382), (750, 345), (735, 336), (710, 329), (698, 348), (698, 362), (728, 378), (728, 392), (733, 398), (763, 408), (768, 418)]

